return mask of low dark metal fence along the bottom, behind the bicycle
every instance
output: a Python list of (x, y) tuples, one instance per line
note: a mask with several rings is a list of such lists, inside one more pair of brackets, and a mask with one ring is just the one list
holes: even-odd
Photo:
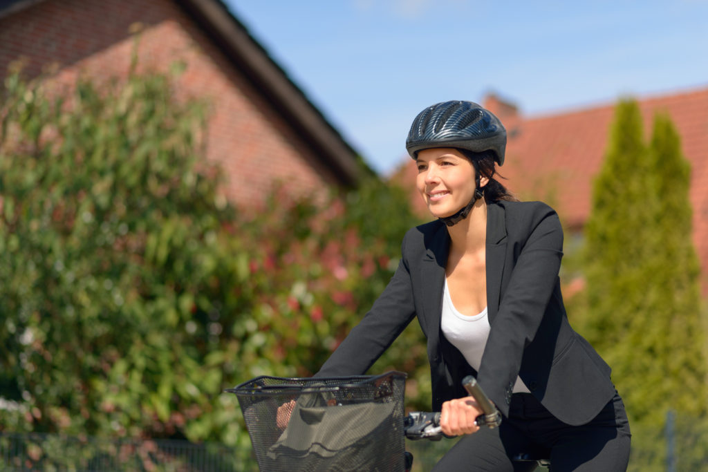
[[(452, 443), (407, 441), (413, 470), (430, 470)], [(249, 455), (215, 443), (0, 433), (0, 471), (258, 471)], [(669, 413), (663, 427), (632, 425), (628, 470), (708, 471), (708, 421)]]

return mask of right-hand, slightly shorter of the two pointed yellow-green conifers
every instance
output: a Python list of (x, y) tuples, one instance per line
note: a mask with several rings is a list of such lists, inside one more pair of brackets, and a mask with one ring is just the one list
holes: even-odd
[(673, 380), (667, 388), (668, 408), (704, 414), (708, 359), (702, 349), (706, 333), (700, 316), (700, 263), (691, 237), (690, 164), (667, 115), (654, 120), (650, 152), (658, 195), (654, 217), (658, 231), (651, 240), (657, 245), (653, 253), (655, 281), (647, 292), (651, 292), (653, 306), (666, 315), (654, 327), (652, 338), (665, 362), (661, 374)]

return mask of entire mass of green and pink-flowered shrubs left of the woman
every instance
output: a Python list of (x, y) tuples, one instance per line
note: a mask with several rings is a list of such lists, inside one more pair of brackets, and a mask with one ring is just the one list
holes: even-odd
[[(13, 74), (1, 103), (0, 431), (185, 437), (247, 456), (223, 388), (316, 372), (417, 222), (375, 178), (324, 202), (275, 192), (244, 217), (200, 157), (205, 105), (176, 100), (169, 76), (83, 80), (62, 100)], [(375, 369), (418, 387), (413, 325)], [(425, 408), (429, 388), (410, 397)]]

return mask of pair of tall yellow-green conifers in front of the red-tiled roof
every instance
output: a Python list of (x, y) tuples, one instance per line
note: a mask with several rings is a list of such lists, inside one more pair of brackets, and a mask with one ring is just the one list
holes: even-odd
[(639, 107), (619, 103), (586, 226), (580, 328), (612, 366), (637, 426), (661, 428), (669, 408), (707, 413), (689, 179), (668, 117), (656, 117), (645, 144)]

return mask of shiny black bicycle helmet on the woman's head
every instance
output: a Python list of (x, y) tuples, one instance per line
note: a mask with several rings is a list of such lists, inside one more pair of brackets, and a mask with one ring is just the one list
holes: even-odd
[(421, 149), (434, 147), (492, 151), (494, 160), (501, 166), (506, 129), (489, 110), (474, 102), (442, 102), (418, 113), (406, 139), (406, 149), (413, 159)]

